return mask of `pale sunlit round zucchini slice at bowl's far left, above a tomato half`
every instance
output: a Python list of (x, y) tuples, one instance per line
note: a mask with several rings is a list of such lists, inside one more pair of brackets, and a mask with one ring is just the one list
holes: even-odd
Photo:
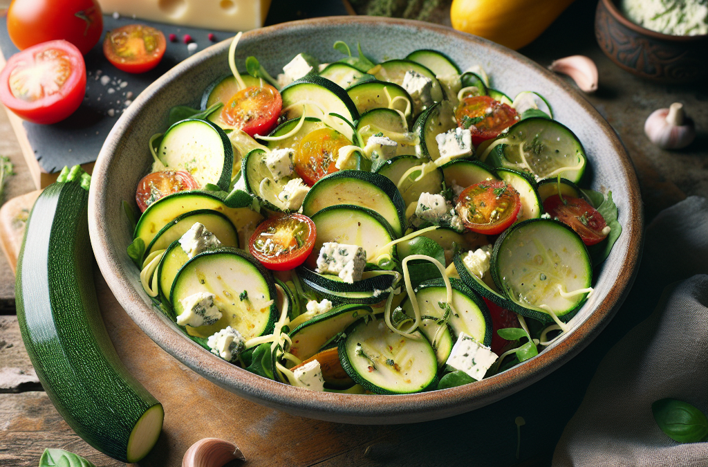
[(202, 188), (214, 184), (229, 189), (234, 150), (216, 123), (197, 118), (175, 123), (162, 137), (157, 154), (165, 167), (189, 172)]

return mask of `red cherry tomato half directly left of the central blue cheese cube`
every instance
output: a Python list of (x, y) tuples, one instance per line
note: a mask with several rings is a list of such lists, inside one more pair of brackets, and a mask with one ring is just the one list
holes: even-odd
[(249, 240), (249, 251), (266, 268), (287, 271), (304, 263), (316, 237), (314, 222), (307, 215), (280, 215), (256, 227)]

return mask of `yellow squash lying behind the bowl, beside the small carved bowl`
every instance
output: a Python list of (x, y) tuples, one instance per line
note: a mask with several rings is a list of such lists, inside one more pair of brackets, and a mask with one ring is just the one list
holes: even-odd
[(558, 18), (573, 0), (453, 0), (452, 27), (518, 49)]

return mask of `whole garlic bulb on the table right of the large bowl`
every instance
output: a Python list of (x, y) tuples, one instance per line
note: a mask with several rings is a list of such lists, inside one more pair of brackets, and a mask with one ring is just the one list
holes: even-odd
[(693, 120), (686, 116), (683, 103), (653, 111), (644, 123), (649, 140), (665, 150), (678, 150), (690, 145), (696, 137)]

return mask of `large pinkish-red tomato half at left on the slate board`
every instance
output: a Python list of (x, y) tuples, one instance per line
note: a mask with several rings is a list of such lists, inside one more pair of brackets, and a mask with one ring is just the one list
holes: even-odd
[(33, 123), (72, 115), (86, 94), (86, 65), (76, 46), (52, 40), (18, 52), (0, 73), (0, 100)]

